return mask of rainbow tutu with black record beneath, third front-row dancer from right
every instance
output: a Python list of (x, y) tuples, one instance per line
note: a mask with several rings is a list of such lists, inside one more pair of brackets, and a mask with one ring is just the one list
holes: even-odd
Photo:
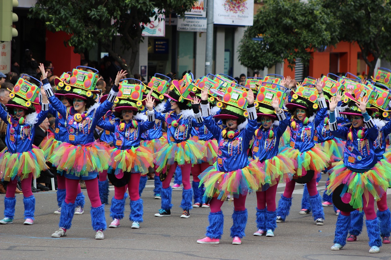
[(314, 146), (310, 150), (301, 153), (295, 148), (288, 148), (281, 152), (291, 160), (297, 162), (296, 176), (305, 176), (308, 170), (314, 171), (315, 175), (328, 166), (330, 157), (321, 149)]

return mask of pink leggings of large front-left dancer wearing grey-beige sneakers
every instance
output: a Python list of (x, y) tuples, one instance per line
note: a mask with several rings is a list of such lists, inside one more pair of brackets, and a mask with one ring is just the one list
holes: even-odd
[[(79, 179), (68, 179), (65, 178), (66, 185), (66, 195), (65, 195), (65, 203), (75, 203), (76, 196), (78, 193), (77, 185), (79, 185)], [(98, 188), (98, 178), (92, 180), (85, 180), (88, 198), (91, 201), (91, 206), (93, 208), (100, 207), (102, 203), (100, 202), (99, 197), (99, 188)], [(80, 187), (80, 185), (79, 185)]]

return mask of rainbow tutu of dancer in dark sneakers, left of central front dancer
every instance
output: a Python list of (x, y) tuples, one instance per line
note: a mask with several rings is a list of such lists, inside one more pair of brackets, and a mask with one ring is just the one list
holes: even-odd
[(191, 139), (179, 144), (170, 142), (156, 153), (156, 165), (159, 166), (156, 171), (159, 172), (167, 165), (174, 164), (174, 162), (179, 165), (185, 163), (197, 164), (199, 160), (204, 158), (205, 149), (205, 147)]

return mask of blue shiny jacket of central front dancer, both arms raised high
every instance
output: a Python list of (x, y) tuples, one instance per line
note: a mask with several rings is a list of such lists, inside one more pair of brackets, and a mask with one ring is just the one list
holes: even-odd
[(213, 134), (219, 146), (217, 151), (217, 170), (229, 172), (248, 166), (247, 150), (257, 128), (255, 107), (247, 109), (249, 114), (248, 123), (244, 129), (235, 131), (236, 136), (233, 139), (222, 136), (222, 129), (217, 125), (212, 115), (208, 115), (208, 112), (205, 112), (208, 107), (209, 105), (201, 105), (204, 124)]

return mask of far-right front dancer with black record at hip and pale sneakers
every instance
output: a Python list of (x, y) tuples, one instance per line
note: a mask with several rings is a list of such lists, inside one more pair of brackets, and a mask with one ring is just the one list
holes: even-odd
[[(378, 137), (378, 129), (373, 119), (366, 112), (368, 97), (364, 96), (361, 100), (355, 98), (349, 93), (345, 96), (359, 105), (349, 105), (348, 109), (340, 114), (350, 116), (352, 125), (338, 126), (335, 121), (335, 107), (337, 107), (336, 98), (330, 100), (330, 129), (332, 134), (338, 138), (346, 139), (343, 161), (339, 162), (332, 170), (330, 175), (330, 184), (327, 187), (327, 193), (330, 194), (337, 187), (342, 185), (345, 201), (349, 205), (359, 210), (364, 210), (366, 215), (366, 227), (369, 237), (369, 253), (380, 252), (382, 240), (380, 237), (379, 221), (375, 214), (374, 199), (379, 200), (386, 196), (388, 187), (388, 171), (384, 171), (382, 166), (377, 163), (374, 142)], [(365, 123), (365, 125), (364, 125)], [(349, 199), (350, 198), (350, 199)], [(350, 226), (350, 212), (341, 208), (338, 216), (334, 245), (331, 250), (342, 249), (346, 244), (346, 236)]]

